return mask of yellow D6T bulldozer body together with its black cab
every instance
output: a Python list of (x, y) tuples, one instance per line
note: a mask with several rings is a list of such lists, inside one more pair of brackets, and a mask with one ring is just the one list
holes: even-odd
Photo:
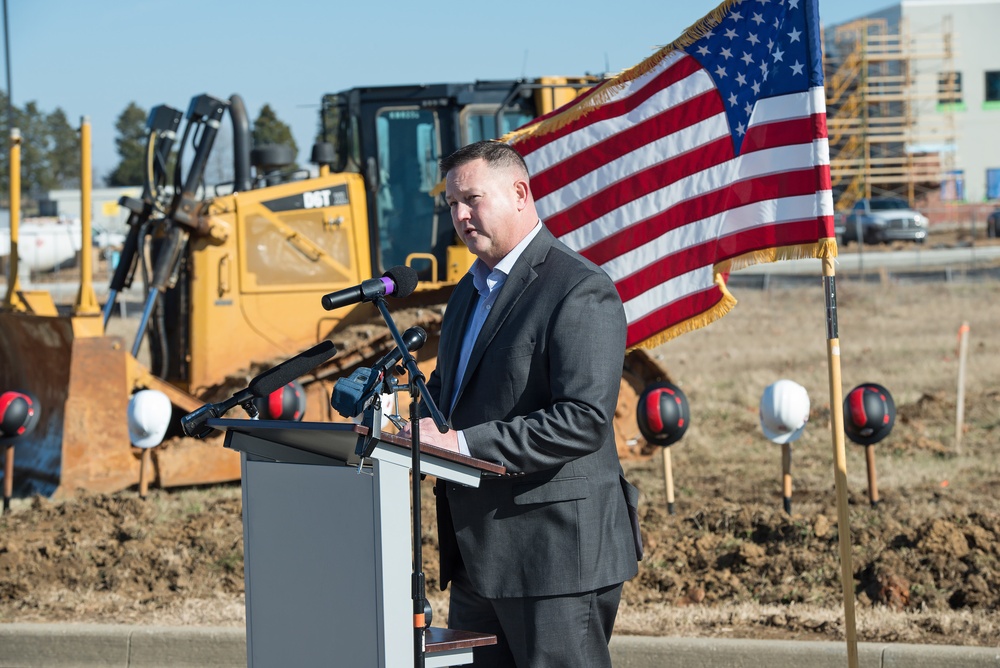
[(323, 294), (398, 265), (417, 271), (424, 303), (443, 304), (440, 291), (473, 258), (437, 194), (438, 161), (572, 99), (583, 83), (382, 86), (324, 96), (318, 174), (282, 171), (278, 152), (255, 147), (248, 162), (256, 187), (201, 203), (176, 288), (164, 292), (163, 317), (150, 329), (166, 339), (166, 363), (154, 363), (154, 374), (196, 396), (224, 390), (248, 361), (289, 357), (366, 311), (324, 313)]

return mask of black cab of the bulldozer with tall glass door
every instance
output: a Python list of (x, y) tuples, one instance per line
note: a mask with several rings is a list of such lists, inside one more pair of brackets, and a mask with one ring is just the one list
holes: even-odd
[(361, 174), (368, 189), (373, 271), (409, 263), (424, 280), (457, 280), (471, 257), (463, 262), (453, 252), (449, 258), (455, 233), (436, 195), (438, 161), (466, 144), (501, 137), (593, 84), (589, 77), (546, 78), (354, 88), (324, 96), (321, 140), (334, 149), (330, 169)]

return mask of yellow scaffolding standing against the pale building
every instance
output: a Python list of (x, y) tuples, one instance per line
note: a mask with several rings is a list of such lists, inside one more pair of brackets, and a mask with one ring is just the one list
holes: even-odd
[(884, 18), (834, 28), (824, 69), (837, 210), (873, 196), (913, 205), (953, 174), (961, 103), (953, 41), (950, 17), (927, 34), (910, 34), (905, 20), (893, 32)]

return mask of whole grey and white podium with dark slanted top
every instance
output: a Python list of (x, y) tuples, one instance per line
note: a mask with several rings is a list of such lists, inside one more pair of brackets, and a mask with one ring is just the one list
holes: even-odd
[[(247, 665), (412, 668), (408, 439), (383, 434), (358, 468), (364, 427), (213, 418), (240, 452)], [(504, 468), (421, 446), (421, 473), (477, 487)], [(426, 633), (425, 665), (472, 662), (496, 636)]]

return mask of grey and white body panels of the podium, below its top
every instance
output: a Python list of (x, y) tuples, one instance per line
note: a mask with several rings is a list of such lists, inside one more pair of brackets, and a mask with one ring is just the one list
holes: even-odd
[(248, 665), (412, 666), (405, 480), (379, 500), (353, 467), (244, 456), (243, 475)]

